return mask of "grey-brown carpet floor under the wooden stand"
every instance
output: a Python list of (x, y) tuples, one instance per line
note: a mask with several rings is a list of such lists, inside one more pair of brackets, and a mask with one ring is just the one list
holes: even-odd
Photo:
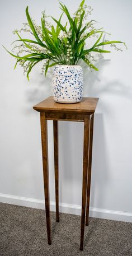
[(0, 204), (1, 256), (132, 256), (132, 224), (89, 218), (84, 249), (79, 250), (81, 217), (51, 212), (51, 239), (47, 243), (45, 211)]

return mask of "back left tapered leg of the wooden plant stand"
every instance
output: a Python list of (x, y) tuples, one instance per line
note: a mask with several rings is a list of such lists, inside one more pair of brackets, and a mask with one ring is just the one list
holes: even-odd
[(58, 121), (53, 120), (54, 129), (54, 168), (55, 168), (55, 202), (56, 222), (59, 222), (59, 193), (58, 193)]

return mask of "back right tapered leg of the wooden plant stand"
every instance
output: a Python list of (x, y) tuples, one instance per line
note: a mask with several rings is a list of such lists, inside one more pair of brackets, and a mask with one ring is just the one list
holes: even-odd
[(93, 142), (93, 119), (92, 114), (90, 120), (90, 138), (89, 138), (89, 154), (88, 154), (88, 180), (87, 180), (87, 208), (86, 208), (86, 226), (88, 226), (89, 217), (89, 201), (90, 201), (90, 187), (91, 187), (91, 166), (92, 166), (92, 142)]

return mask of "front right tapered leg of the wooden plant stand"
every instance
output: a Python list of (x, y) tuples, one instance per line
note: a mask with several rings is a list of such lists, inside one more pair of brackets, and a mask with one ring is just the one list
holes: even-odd
[(83, 250), (84, 226), (86, 213), (86, 193), (87, 193), (87, 169), (88, 169), (88, 143), (89, 143), (89, 115), (84, 118), (84, 142), (83, 142), (83, 183), (82, 183), (82, 216), (81, 216), (81, 244)]

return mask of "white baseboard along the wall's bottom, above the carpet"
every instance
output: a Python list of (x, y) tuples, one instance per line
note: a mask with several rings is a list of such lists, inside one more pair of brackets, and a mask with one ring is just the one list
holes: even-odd
[[(41, 199), (17, 197), (8, 194), (0, 194), (1, 203), (16, 204), (37, 209), (45, 209), (45, 201)], [(50, 202), (50, 210), (55, 211), (55, 202)], [(81, 206), (76, 204), (59, 203), (59, 211), (74, 215), (81, 215)], [(131, 212), (111, 211), (100, 208), (89, 208), (89, 216), (96, 218), (105, 218), (107, 220), (117, 220), (132, 222)]]

